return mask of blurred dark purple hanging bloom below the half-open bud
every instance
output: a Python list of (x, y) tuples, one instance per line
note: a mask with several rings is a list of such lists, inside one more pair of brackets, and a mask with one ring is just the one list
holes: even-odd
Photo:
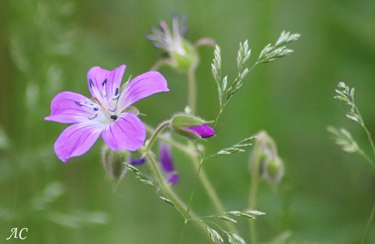
[(168, 182), (178, 183), (178, 175), (173, 168), (172, 148), (164, 141), (159, 142), (159, 159), (160, 166), (168, 177)]

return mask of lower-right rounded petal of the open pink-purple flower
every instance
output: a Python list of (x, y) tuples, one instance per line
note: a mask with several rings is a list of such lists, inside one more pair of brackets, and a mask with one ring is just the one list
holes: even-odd
[(116, 121), (105, 126), (102, 137), (113, 151), (135, 151), (142, 146), (146, 138), (146, 129), (135, 114), (125, 112), (120, 114)]

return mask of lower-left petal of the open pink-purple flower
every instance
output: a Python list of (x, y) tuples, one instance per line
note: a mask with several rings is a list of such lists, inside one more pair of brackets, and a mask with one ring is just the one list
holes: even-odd
[(100, 136), (105, 125), (95, 121), (73, 124), (58, 136), (54, 150), (63, 162), (86, 153)]

